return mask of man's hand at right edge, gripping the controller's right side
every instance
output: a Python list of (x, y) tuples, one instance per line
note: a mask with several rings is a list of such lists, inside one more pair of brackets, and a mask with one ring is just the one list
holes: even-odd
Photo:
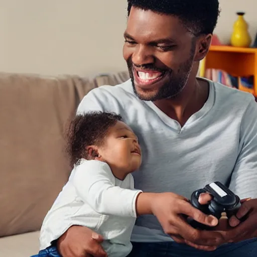
[[(257, 199), (244, 199), (235, 215), (229, 219), (229, 229), (224, 236), (229, 242), (239, 242), (245, 239), (257, 237)], [(245, 218), (246, 220), (240, 221)]]

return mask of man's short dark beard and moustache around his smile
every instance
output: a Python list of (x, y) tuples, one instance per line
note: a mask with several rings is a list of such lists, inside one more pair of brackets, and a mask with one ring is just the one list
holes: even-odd
[[(167, 69), (165, 70), (166, 74), (165, 76), (168, 77), (168, 82), (164, 83), (162, 87), (159, 88), (158, 92), (146, 92), (141, 93), (137, 91), (137, 88), (135, 86), (135, 81), (134, 81), (134, 74), (133, 74), (133, 62), (132, 59), (130, 58), (127, 61), (127, 68), (129, 69), (132, 85), (133, 85), (133, 90), (135, 94), (144, 101), (157, 101), (161, 99), (167, 99), (167, 98), (172, 98), (175, 99), (180, 92), (184, 89), (188, 77), (190, 75), (190, 72), (193, 67), (193, 59), (194, 59), (194, 54), (193, 51), (191, 51), (189, 59), (184, 62), (178, 69), (177, 74), (173, 73), (172, 69)], [(145, 68), (147, 70), (160, 70), (154, 66), (154, 64), (146, 64), (146, 65), (135, 65), (136, 67), (140, 68)], [(167, 78), (166, 78), (167, 79)]]

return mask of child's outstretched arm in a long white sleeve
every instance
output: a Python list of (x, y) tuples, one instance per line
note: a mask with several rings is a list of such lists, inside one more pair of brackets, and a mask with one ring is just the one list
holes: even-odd
[[(114, 176), (106, 163), (85, 161), (76, 170), (71, 180), (78, 196), (95, 211), (106, 215), (137, 217), (149, 208), (137, 210), (136, 202), (141, 190), (123, 189), (114, 186)], [(143, 201), (144, 202), (144, 201)], [(150, 213), (149, 213), (150, 214)]]

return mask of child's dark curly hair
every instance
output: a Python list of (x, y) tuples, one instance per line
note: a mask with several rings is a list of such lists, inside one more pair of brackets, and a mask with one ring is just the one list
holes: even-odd
[(67, 152), (71, 165), (79, 164), (80, 159), (89, 159), (86, 147), (100, 146), (108, 129), (117, 121), (122, 121), (119, 114), (113, 112), (91, 111), (78, 114), (71, 121), (67, 133)]

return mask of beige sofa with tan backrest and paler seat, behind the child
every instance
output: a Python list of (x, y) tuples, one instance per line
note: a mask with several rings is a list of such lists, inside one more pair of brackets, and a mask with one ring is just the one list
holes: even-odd
[(127, 72), (86, 79), (0, 73), (0, 256), (39, 250), (43, 218), (68, 179), (67, 122), (91, 89)]

